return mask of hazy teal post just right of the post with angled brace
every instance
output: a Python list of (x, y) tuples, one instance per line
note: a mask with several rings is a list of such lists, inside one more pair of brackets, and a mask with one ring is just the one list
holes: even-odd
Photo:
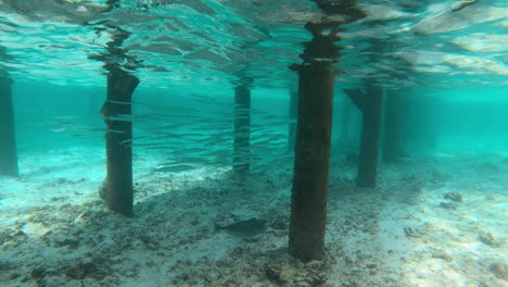
[(401, 95), (389, 90), (384, 102), (383, 162), (395, 162), (401, 157)]

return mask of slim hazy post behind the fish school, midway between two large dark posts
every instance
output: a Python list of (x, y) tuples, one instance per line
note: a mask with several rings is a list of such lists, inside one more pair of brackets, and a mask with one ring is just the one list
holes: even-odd
[(240, 84), (234, 88), (233, 172), (251, 170), (251, 88)]

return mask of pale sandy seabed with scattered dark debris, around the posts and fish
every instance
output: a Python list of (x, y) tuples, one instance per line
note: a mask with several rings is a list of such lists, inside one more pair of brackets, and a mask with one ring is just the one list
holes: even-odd
[[(508, 154), (441, 151), (380, 166), (376, 189), (332, 162), (327, 254), (287, 251), (291, 166), (154, 170), (135, 157), (136, 216), (105, 210), (103, 149), (21, 154), (0, 178), (0, 286), (508, 286)], [(266, 232), (215, 230), (251, 217)]]

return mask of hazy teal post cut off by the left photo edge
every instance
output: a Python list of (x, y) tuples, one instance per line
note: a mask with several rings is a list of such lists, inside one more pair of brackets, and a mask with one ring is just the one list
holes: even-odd
[(0, 175), (17, 176), (12, 79), (0, 73)]

